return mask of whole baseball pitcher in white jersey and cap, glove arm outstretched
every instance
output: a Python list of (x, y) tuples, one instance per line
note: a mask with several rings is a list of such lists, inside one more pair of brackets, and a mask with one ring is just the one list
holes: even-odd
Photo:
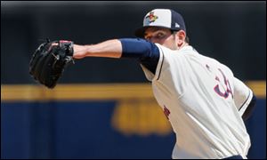
[[(230, 68), (200, 54), (189, 44), (184, 20), (178, 12), (169, 9), (148, 12), (135, 36), (138, 38), (91, 45), (59, 41), (39, 48), (38, 52), (55, 55), (50, 56), (53, 59), (50, 63), (49, 60), (42, 63), (50, 70), (45, 74), (48, 86), (53, 88), (60, 76), (53, 75), (53, 64), (59, 60), (63, 61), (62, 70), (70, 59), (137, 59), (176, 134), (173, 158), (247, 159), (251, 143), (244, 121), (251, 115), (256, 100), (251, 89)], [(61, 56), (59, 51), (67, 53)], [(31, 68), (38, 81), (39, 72)], [(43, 77), (42, 83), (45, 82)]]

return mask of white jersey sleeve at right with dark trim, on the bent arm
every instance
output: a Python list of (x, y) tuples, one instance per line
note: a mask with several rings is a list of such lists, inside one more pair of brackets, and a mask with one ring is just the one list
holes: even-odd
[(241, 82), (238, 78), (234, 77), (234, 101), (236, 107), (239, 109), (239, 115), (243, 116), (250, 101), (253, 98), (253, 92), (247, 87), (246, 84)]

